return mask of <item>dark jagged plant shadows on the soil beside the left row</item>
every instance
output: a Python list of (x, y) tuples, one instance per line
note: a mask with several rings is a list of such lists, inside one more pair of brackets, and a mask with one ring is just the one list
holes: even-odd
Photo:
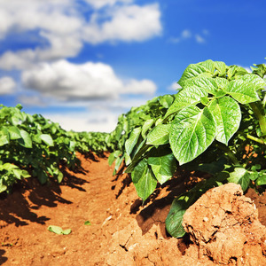
[[(77, 174), (86, 174), (84, 169), (79, 168), (75, 173), (70, 173), (64, 168), (61, 170), (64, 174), (64, 180), (60, 186), (67, 185), (85, 192), (82, 184), (88, 183), (88, 181), (82, 177), (77, 177)], [(11, 194), (0, 194), (0, 228), (6, 223), (14, 223), (16, 226), (27, 225), (28, 222), (45, 224), (50, 218), (38, 216), (35, 210), (41, 206), (57, 207), (58, 202), (72, 203), (60, 196), (60, 186), (53, 179), (48, 184), (42, 185), (37, 178), (32, 177), (15, 184)]]

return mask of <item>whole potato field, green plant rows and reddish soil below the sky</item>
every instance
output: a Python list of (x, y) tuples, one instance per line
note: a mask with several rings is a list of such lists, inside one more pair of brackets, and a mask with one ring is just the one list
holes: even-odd
[(74, 132), (0, 106), (5, 265), (266, 265), (266, 74), (207, 60)]

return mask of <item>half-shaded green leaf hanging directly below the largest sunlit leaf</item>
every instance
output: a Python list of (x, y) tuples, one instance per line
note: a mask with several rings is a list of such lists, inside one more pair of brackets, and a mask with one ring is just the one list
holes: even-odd
[(164, 184), (176, 171), (176, 158), (170, 149), (155, 149), (148, 158), (148, 164), (160, 184)]

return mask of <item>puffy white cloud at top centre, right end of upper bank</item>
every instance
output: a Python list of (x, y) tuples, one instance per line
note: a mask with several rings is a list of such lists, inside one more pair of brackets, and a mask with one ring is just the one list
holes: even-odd
[(83, 38), (88, 43), (106, 41), (144, 41), (160, 35), (160, 9), (158, 4), (145, 6), (125, 5), (109, 12), (103, 23), (102, 16), (95, 13), (84, 27)]

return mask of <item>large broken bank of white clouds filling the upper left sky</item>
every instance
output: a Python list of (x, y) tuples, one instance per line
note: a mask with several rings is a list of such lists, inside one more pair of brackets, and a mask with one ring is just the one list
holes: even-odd
[[(43, 60), (76, 56), (84, 43), (144, 41), (160, 35), (158, 4), (137, 5), (129, 0), (86, 0), (90, 18), (70, 0), (0, 0), (0, 39), (35, 31), (46, 45), (6, 51), (0, 68), (25, 69)], [(116, 5), (117, 3), (120, 3)], [(27, 6), (27, 8), (25, 8)]]

